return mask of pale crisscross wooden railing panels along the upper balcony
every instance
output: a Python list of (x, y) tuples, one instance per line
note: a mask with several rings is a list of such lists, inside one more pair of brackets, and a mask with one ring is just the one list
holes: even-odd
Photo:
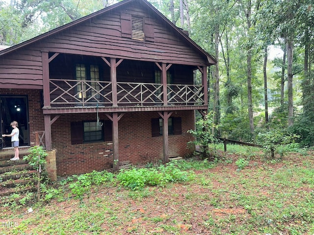
[[(113, 106), (112, 83), (104, 81), (50, 79), (52, 107)], [(163, 105), (163, 85), (155, 83), (117, 83), (118, 106)], [(168, 105), (204, 104), (204, 87), (167, 85)]]

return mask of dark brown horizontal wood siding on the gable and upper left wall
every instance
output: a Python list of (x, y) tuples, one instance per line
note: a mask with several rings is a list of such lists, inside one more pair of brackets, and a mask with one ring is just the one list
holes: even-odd
[(106, 12), (101, 17), (92, 18), (3, 55), (0, 58), (1, 87), (42, 89), (41, 51), (192, 66), (207, 65), (204, 55), (183, 42), (184, 39), (180, 40), (182, 37), (178, 32), (154, 18), (154, 12), (150, 9), (137, 4), (126, 7), (120, 9), (122, 13), (142, 16), (144, 23), (149, 25), (150, 40), (122, 37), (121, 12)]

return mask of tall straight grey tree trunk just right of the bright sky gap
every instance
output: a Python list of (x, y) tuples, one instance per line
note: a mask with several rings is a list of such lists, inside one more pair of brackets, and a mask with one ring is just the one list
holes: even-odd
[(287, 38), (287, 62), (288, 62), (288, 126), (293, 125), (293, 88), (292, 88), (292, 62), (293, 62), (293, 40)]

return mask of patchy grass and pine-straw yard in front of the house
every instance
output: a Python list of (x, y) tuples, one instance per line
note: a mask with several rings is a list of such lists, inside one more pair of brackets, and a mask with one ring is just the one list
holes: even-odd
[[(223, 155), (223, 154), (221, 154)], [(247, 161), (239, 169), (238, 159)], [(228, 154), (182, 161), (194, 179), (131, 190), (104, 184), (79, 199), (1, 208), (5, 235), (313, 235), (314, 156), (280, 161)], [(61, 186), (60, 186), (61, 187)], [(33, 212), (27, 213), (32, 207)]]

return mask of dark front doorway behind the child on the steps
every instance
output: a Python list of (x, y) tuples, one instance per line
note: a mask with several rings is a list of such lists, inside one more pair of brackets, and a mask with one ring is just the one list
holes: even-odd
[[(0, 137), (2, 134), (10, 134), (10, 123), (17, 121), (20, 130), (20, 146), (29, 145), (28, 125), (28, 101), (27, 96), (0, 96)], [(0, 149), (11, 147), (11, 138), (5, 137), (0, 140)]]

